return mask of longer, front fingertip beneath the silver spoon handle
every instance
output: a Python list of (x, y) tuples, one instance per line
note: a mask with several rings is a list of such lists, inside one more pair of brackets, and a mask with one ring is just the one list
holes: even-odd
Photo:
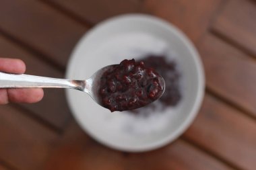
[(41, 88), (7, 89), (9, 101), (16, 103), (36, 103), (43, 96), (44, 91)]

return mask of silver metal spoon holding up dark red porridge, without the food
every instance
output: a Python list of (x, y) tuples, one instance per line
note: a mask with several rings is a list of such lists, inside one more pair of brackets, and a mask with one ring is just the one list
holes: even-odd
[[(101, 103), (100, 96), (98, 95), (100, 79), (105, 71), (113, 67), (115, 67), (115, 65), (108, 65), (106, 67), (103, 67), (102, 69), (96, 71), (94, 75), (86, 80), (56, 79), (51, 77), (40, 77), (35, 75), (0, 72), (0, 88), (42, 87), (76, 89), (88, 93), (90, 97), (92, 97), (92, 99), (96, 101), (96, 103), (104, 107)], [(160, 84), (162, 85), (162, 87), (165, 87), (164, 79), (162, 77), (160, 78)], [(162, 91), (162, 93), (164, 93), (164, 90)]]

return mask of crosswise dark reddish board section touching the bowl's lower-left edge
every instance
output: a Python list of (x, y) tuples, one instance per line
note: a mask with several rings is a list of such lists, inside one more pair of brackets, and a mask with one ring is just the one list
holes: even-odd
[(123, 170), (123, 154), (98, 144), (75, 122), (65, 131), (59, 147), (51, 154), (45, 170), (106, 169)]

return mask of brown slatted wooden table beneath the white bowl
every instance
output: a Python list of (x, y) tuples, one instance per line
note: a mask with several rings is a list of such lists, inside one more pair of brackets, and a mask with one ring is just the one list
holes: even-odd
[(64, 77), (77, 40), (121, 13), (162, 17), (199, 50), (207, 87), (189, 130), (156, 151), (114, 151), (77, 126), (63, 89), (47, 89), (40, 103), (0, 106), (0, 169), (255, 170), (256, 1), (0, 0), (0, 56)]

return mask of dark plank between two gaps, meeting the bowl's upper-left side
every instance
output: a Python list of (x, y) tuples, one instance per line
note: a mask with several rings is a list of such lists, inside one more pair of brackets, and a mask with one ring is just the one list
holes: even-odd
[(0, 30), (65, 67), (87, 29), (40, 1), (9, 0), (0, 5)]

